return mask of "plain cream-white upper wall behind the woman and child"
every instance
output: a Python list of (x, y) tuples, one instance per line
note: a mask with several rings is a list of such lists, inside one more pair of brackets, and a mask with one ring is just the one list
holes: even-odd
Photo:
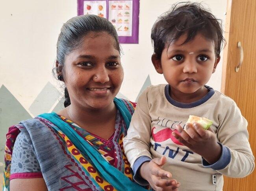
[[(140, 0), (139, 44), (122, 44), (121, 93), (130, 100), (135, 100), (148, 75), (152, 84), (165, 83), (151, 64), (150, 30), (175, 2)], [(224, 20), (226, 0), (204, 3)], [(56, 42), (62, 24), (76, 14), (76, 0), (0, 0), (0, 87), (4, 84), (27, 111), (47, 82), (59, 88), (51, 73)], [(208, 83), (216, 90), (221, 87), (221, 67), (220, 63)]]

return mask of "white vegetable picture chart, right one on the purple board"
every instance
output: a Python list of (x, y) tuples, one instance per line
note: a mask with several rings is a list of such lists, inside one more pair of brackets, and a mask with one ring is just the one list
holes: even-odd
[(118, 36), (132, 36), (132, 1), (109, 0), (108, 20), (115, 26)]

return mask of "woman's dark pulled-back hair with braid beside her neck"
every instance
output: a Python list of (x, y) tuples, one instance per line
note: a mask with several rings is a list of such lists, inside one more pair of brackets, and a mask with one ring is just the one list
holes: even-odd
[[(69, 55), (71, 51), (76, 49), (82, 42), (83, 37), (85, 37), (89, 32), (106, 32), (113, 36), (115, 39), (115, 48), (120, 53), (117, 31), (109, 20), (96, 15), (75, 16), (61, 27), (61, 33), (59, 34), (57, 42), (56, 62), (58, 62), (58, 68), (55, 68), (55, 73), (57, 75), (60, 73), (61, 75), (64, 74), (63, 69), (65, 69), (65, 56)], [(63, 76), (63, 80), (65, 81), (65, 76)], [(64, 94), (64, 106), (67, 107), (70, 105), (67, 87), (65, 87)]]

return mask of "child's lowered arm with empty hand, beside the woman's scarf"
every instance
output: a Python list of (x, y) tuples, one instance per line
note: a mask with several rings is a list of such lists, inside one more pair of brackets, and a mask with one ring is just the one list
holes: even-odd
[[(179, 184), (171, 179), (171, 173), (161, 169), (166, 158), (152, 160), (149, 151), (152, 122), (147, 100), (149, 89), (150, 87), (138, 99), (130, 127), (123, 140), (124, 152), (134, 170), (136, 182), (144, 186), (150, 184), (154, 190), (175, 190)], [(161, 179), (163, 177), (166, 179)]]

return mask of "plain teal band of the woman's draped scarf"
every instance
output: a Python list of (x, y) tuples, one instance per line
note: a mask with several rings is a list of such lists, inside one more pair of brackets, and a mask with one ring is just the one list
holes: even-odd
[[(132, 115), (128, 111), (127, 107), (118, 98), (114, 98), (114, 103), (120, 111), (126, 127), (130, 125)], [(64, 122), (56, 113), (44, 113), (39, 115), (55, 124), (54, 129), (56, 131), (61, 130), (71, 142), (86, 155), (93, 162), (94, 167), (102, 175), (106, 181), (109, 182), (115, 189), (123, 191), (146, 191), (143, 187), (139, 186), (135, 182), (132, 182), (128, 177), (126, 177), (121, 171), (111, 166), (98, 152), (98, 150), (92, 147), (87, 141), (85, 141), (72, 127), (70, 127), (66, 122)]]

